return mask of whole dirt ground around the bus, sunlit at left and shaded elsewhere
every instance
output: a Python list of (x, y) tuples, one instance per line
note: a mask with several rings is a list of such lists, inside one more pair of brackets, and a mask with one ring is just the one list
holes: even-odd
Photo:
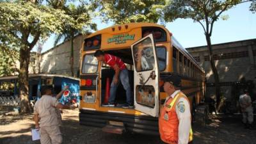
[[(10, 109), (1, 108), (0, 111), (0, 143), (37, 144), (40, 141), (31, 140), (31, 128), (34, 127), (33, 115), (6, 115)], [(126, 143), (162, 143), (159, 136), (141, 134), (109, 134), (95, 127), (79, 125), (79, 110), (67, 110), (63, 113), (64, 144), (126, 144)], [(193, 124), (194, 144), (201, 143), (241, 143), (256, 144), (256, 131), (244, 129), (239, 115), (214, 116), (204, 125), (200, 115), (196, 116)]]

